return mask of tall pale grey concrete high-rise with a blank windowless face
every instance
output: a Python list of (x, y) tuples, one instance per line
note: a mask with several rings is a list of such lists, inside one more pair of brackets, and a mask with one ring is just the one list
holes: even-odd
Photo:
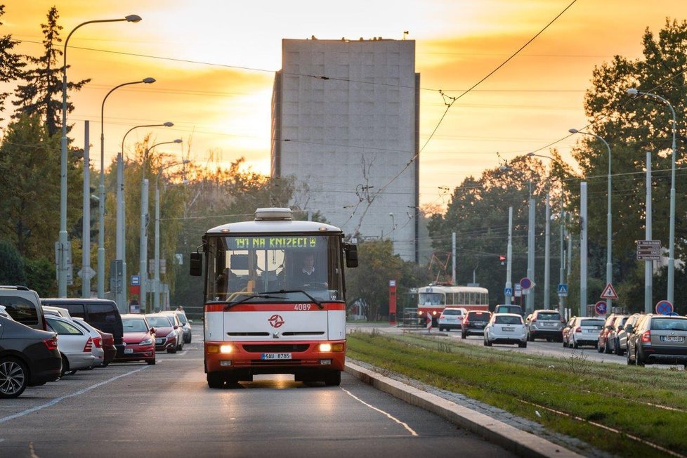
[(419, 80), (413, 40), (282, 40), (271, 157), (293, 204), (416, 262)]

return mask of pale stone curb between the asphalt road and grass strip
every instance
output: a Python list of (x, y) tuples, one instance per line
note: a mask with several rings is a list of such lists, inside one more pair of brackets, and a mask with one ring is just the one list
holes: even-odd
[(476, 433), (478, 436), (504, 447), (521, 457), (582, 457), (560, 445), (549, 442), (535, 436), (532, 433), (521, 431), (502, 421), (480, 414), (474, 410), (452, 403), (450, 400), (440, 398), (437, 395), (421, 391), (400, 381), (384, 377), (384, 375), (372, 372), (346, 361), (346, 372), (357, 377), (361, 381), (374, 386), (379, 391), (384, 391), (405, 403), (421, 407), (453, 424)]

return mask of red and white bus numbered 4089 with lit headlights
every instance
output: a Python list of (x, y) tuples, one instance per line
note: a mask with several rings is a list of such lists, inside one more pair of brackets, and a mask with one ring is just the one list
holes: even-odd
[[(208, 386), (252, 381), (254, 374), (339, 385), (344, 259), (358, 266), (357, 247), (343, 242), (341, 229), (293, 221), (287, 208), (257, 209), (254, 221), (208, 230), (190, 262), (191, 275), (204, 276)], [(306, 263), (311, 275), (304, 279)]]

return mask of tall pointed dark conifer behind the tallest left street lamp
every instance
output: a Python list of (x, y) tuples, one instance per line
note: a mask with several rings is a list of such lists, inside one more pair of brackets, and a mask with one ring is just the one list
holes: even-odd
[[(43, 30), (44, 53), (39, 57), (30, 55), (23, 56), (29, 67), (21, 72), (21, 78), (26, 84), (20, 84), (15, 90), (17, 100), (13, 101), (15, 107), (15, 117), (24, 114), (41, 114), (45, 120), (48, 135), (53, 136), (60, 131), (62, 126), (62, 65), (58, 63), (58, 58), (63, 55), (63, 51), (58, 48), (62, 42), (58, 25), (57, 8), (53, 6), (48, 10), (47, 24), (41, 24)], [(67, 65), (69, 68), (69, 65)], [(79, 91), (84, 84), (91, 79), (81, 81), (67, 81), (67, 93)], [(67, 100), (67, 112), (72, 112), (74, 106)], [(67, 126), (69, 129), (69, 126)]]

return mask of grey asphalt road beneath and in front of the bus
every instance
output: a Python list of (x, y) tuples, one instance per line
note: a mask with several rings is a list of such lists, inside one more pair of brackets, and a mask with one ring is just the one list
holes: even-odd
[(511, 456), (346, 373), (339, 387), (279, 375), (210, 389), (200, 329), (157, 361), (77, 372), (2, 400), (0, 456)]

